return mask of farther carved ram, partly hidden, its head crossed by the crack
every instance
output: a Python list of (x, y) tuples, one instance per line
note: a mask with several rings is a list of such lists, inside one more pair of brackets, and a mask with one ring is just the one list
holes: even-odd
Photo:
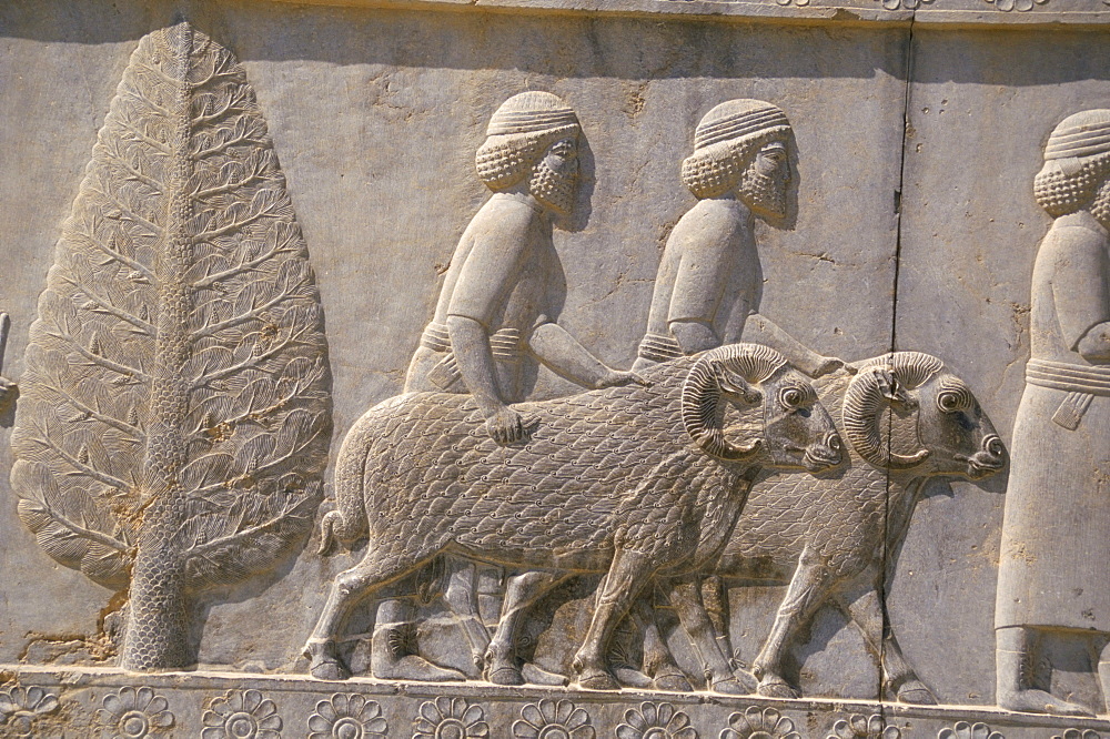
[[(798, 697), (783, 677), (784, 654), (814, 613), (831, 603), (881, 659), (887, 690), (904, 702), (934, 703), (894, 635), (884, 639), (884, 563), (892, 569), (926, 480), (992, 475), (1005, 466), (1006, 449), (971, 391), (937, 357), (896, 352), (856, 366), (855, 376), (840, 372), (815, 383), (821, 403), (840, 418), (848, 464), (819, 477), (756, 480), (716, 575), (789, 580), (753, 664), (760, 695)], [(725, 604), (715, 605), (724, 614), (718, 638), (731, 654)], [(646, 626), (645, 671), (655, 687), (690, 689), (654, 624)], [(697, 648), (712, 645), (703, 637)]]

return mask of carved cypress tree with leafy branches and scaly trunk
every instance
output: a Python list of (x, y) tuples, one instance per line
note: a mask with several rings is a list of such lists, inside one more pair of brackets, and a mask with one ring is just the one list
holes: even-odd
[(181, 667), (191, 599), (294, 553), (331, 432), (323, 314), (243, 69), (178, 23), (144, 37), (31, 326), (19, 514), (128, 590), (120, 662)]

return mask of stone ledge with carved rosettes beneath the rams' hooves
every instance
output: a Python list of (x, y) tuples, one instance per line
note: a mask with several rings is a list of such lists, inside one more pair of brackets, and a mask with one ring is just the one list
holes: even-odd
[[(1018, 713), (976, 706), (909, 706), (878, 700), (777, 699), (664, 691), (619, 692), (549, 687), (505, 687), (488, 682), (404, 682), (353, 677), (316, 680), (300, 675), (198, 670), (135, 675), (114, 668), (0, 665), (10, 680), (0, 695), (32, 696), (43, 720), (64, 715), (93, 728), (139, 709), (151, 731), (164, 727), (195, 736), (233, 736), (229, 722), (255, 721), (258, 736), (327, 736), (341, 721), (356, 722), (365, 737), (434, 732), (432, 719), (470, 727), (474, 736), (531, 737), (559, 725), (569, 736), (623, 737), (653, 727), (683, 739), (759, 736), (978, 737), (998, 739), (1110, 736), (1110, 719)], [(91, 694), (83, 695), (83, 694)], [(124, 700), (120, 700), (120, 697)], [(107, 701), (107, 702), (105, 702)], [(26, 702), (26, 701), (24, 701)], [(110, 707), (110, 710), (104, 710)], [(28, 707), (22, 707), (28, 709)], [(98, 710), (99, 709), (99, 710)], [(189, 718), (192, 717), (192, 718)], [(632, 720), (629, 720), (632, 717)], [(312, 721), (310, 726), (309, 721)], [(867, 725), (864, 733), (860, 727)], [(326, 726), (325, 726), (326, 725)], [(483, 729), (485, 727), (485, 730)], [(622, 729), (622, 727), (625, 727)], [(852, 728), (856, 728), (854, 731)], [(163, 730), (164, 730), (163, 729)], [(591, 731), (593, 729), (593, 731)], [(877, 729), (877, 730), (876, 730)], [(630, 730), (630, 731), (629, 731)], [(886, 732), (884, 733), (884, 730)], [(231, 731), (232, 733), (228, 733)], [(622, 733), (623, 732), (623, 733)], [(724, 732), (724, 735), (722, 735)], [(36, 736), (36, 735), (16, 735)], [(125, 735), (123, 735), (125, 736)], [(193, 736), (193, 735), (189, 735)], [(655, 735), (652, 735), (655, 736)]]

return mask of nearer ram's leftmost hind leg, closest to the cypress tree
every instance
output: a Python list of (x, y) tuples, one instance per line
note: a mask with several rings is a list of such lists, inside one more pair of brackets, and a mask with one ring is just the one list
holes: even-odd
[(351, 610), (373, 591), (385, 587), (408, 574), (431, 555), (415, 557), (405, 554), (382, 553), (371, 543), (362, 561), (335, 576), (327, 593), (327, 600), (316, 620), (307, 644), (304, 645), (304, 656), (311, 660), (310, 672), (323, 680), (341, 680), (351, 672), (343, 665), (336, 650), (340, 631), (346, 624)]

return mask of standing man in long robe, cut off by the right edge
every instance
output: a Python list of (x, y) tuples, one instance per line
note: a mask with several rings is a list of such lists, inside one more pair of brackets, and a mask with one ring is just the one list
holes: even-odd
[(1052, 131), (1033, 181), (1056, 221), (1033, 265), (995, 609), (998, 705), (1081, 715), (1027, 679), (1045, 631), (1086, 632), (1110, 698), (1110, 110)]

